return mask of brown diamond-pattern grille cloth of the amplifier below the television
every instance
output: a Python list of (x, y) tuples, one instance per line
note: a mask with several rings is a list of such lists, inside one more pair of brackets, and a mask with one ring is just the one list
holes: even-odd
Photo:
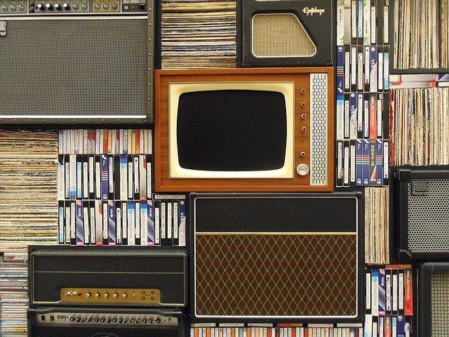
[(196, 234), (196, 315), (356, 315), (356, 234)]

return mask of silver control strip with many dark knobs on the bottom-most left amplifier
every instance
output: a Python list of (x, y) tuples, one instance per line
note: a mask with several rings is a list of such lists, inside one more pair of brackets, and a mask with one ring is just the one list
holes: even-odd
[(152, 314), (110, 314), (105, 312), (50, 312), (36, 314), (39, 324), (177, 326), (177, 317)]

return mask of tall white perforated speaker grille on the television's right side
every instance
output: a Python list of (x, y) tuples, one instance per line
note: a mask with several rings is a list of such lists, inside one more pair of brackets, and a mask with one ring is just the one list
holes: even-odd
[(310, 74), (310, 185), (328, 185), (328, 74)]

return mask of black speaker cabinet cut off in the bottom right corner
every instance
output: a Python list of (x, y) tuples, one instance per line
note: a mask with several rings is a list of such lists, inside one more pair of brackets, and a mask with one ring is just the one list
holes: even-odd
[(418, 334), (449, 336), (449, 263), (423, 263), (418, 270)]

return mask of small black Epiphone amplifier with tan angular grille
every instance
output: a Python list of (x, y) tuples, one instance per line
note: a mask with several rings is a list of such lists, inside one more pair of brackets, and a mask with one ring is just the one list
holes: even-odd
[(243, 66), (333, 65), (334, 11), (328, 0), (243, 1)]

